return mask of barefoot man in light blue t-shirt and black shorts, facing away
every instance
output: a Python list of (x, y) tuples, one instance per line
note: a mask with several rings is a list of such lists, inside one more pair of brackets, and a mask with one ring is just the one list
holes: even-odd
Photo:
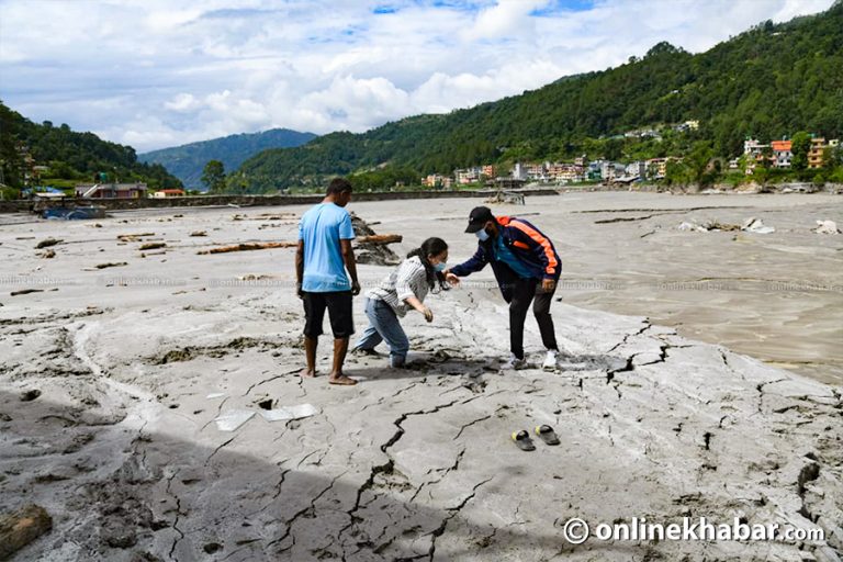
[[(351, 385), (342, 373), (348, 338), (355, 333), (351, 299), (360, 293), (357, 263), (351, 249), (355, 229), (345, 206), (351, 201), (351, 183), (335, 178), (325, 199), (302, 215), (295, 254), (296, 291), (304, 302), (304, 350), (307, 368), (302, 376), (316, 375), (316, 344), (322, 335), (325, 308), (334, 331), (334, 367), (328, 382)], [(349, 281), (346, 269), (351, 276)]]

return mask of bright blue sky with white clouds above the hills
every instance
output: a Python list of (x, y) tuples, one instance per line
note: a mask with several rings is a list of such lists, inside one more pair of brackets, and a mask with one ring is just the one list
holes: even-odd
[(0, 0), (0, 100), (138, 151), (362, 132), (832, 0)]

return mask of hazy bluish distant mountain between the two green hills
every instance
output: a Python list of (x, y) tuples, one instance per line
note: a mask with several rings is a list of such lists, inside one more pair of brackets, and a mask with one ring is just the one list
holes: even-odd
[(220, 160), (226, 172), (236, 170), (248, 158), (269, 148), (291, 148), (304, 145), (317, 135), (289, 128), (272, 128), (262, 133), (243, 133), (210, 140), (200, 140), (138, 155), (140, 161), (160, 164), (179, 178), (187, 188), (204, 189), (202, 169), (209, 160)]

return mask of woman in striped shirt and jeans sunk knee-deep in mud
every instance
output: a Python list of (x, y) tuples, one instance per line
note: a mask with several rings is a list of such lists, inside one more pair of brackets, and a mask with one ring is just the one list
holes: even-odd
[(448, 289), (442, 271), (447, 269), (448, 245), (441, 238), (428, 238), (422, 247), (407, 254), (378, 288), (366, 293), (366, 328), (355, 351), (374, 353), (381, 341), (390, 346), (390, 367), (402, 367), (407, 360), (409, 340), (401, 327), (400, 318), (415, 308), (427, 322), (434, 313), (423, 303), (435, 289)]

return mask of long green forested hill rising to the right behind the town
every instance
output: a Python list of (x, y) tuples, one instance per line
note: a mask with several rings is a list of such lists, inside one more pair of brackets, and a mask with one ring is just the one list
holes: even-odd
[[(687, 120), (700, 122), (689, 140), (724, 157), (740, 154), (746, 135), (843, 135), (843, 2), (822, 14), (765, 22), (706, 53), (660, 43), (641, 59), (521, 95), (267, 150), (245, 161), (239, 176), (250, 191), (263, 191), (384, 165), (426, 173), (582, 153), (595, 158), (607, 145), (595, 139)], [(634, 149), (618, 148), (627, 154), (615, 157)]]

